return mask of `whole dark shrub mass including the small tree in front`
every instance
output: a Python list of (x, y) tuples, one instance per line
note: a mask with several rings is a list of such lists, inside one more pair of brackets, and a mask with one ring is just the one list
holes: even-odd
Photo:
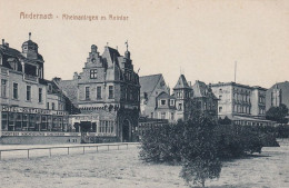
[(190, 184), (205, 186), (218, 178), (221, 161), (261, 152), (275, 145), (273, 129), (218, 125), (212, 118), (195, 116), (189, 121), (153, 127), (144, 132), (140, 158), (153, 162), (182, 162), (180, 176)]

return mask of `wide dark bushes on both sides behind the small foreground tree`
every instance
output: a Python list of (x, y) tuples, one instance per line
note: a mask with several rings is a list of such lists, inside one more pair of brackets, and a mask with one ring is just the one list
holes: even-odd
[(217, 148), (220, 159), (261, 152), (265, 146), (279, 146), (273, 132), (260, 131), (256, 127), (212, 125), (211, 130), (206, 130), (192, 121), (179, 121), (147, 130), (142, 137), (140, 157), (146, 161), (177, 162), (189, 154), (188, 150), (198, 155), (198, 147), (202, 148), (200, 145), (206, 144)]

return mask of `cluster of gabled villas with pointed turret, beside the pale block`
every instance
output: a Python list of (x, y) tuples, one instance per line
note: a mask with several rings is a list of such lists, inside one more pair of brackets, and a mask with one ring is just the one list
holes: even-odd
[(211, 115), (216, 119), (218, 117), (218, 99), (205, 82), (196, 81), (191, 86), (190, 81), (180, 75), (173, 93), (170, 95), (161, 75), (141, 77), (140, 80), (141, 101), (144, 101), (141, 102), (141, 111), (147, 119), (149, 117), (166, 119), (168, 122), (186, 121), (193, 110)]

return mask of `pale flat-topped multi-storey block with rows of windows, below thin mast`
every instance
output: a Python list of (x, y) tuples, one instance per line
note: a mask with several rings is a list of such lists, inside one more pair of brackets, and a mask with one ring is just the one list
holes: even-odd
[[(266, 116), (266, 91), (261, 87), (250, 87), (236, 82), (211, 85), (212, 92), (218, 97), (218, 116), (226, 116), (238, 123), (263, 125)], [(249, 118), (248, 121), (245, 119)], [(262, 122), (261, 122), (262, 120)], [(267, 122), (266, 123), (273, 123)]]

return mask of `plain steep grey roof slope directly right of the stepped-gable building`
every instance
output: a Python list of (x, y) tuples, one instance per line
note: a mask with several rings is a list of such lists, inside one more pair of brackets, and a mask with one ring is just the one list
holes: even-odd
[(158, 85), (159, 80), (161, 79), (161, 77), (162, 77), (161, 73), (140, 77), (139, 78), (140, 93), (152, 92), (156, 86)]

